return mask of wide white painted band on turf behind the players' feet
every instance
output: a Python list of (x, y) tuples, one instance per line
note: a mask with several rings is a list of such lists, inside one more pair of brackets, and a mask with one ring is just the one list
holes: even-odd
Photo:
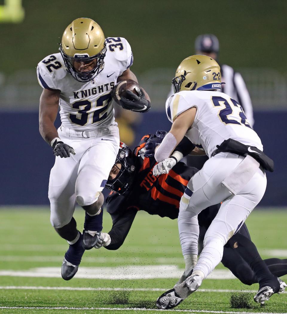
[[(184, 269), (176, 265), (138, 265), (117, 267), (80, 267), (78, 279), (166, 279), (180, 278)], [(61, 278), (60, 267), (39, 267), (27, 270), (0, 270), (0, 276)], [(215, 269), (207, 279), (235, 279), (229, 269)]]

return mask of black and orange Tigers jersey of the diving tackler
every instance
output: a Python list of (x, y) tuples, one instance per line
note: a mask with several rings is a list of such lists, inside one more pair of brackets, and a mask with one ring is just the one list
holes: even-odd
[[(113, 221), (117, 219), (121, 210), (137, 208), (151, 215), (176, 219), (178, 216), (180, 198), (183, 195), (190, 178), (198, 171), (187, 167), (184, 163), (177, 163), (168, 174), (153, 176), (154, 157), (138, 156), (139, 150), (144, 147), (150, 134), (145, 135), (138, 147), (134, 150), (137, 157), (137, 173), (127, 195), (111, 192), (107, 198), (107, 212)], [(128, 192), (128, 191), (127, 191)]]

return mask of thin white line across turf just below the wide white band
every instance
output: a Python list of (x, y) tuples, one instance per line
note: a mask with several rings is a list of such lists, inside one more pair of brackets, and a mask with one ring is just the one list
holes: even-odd
[[(91, 287), (43, 287), (43, 286), (0, 286), (0, 290), (70, 290), (70, 291), (167, 291), (168, 288), (91, 288)], [(198, 289), (198, 292), (251, 292), (257, 290), (230, 290), (230, 289)]]

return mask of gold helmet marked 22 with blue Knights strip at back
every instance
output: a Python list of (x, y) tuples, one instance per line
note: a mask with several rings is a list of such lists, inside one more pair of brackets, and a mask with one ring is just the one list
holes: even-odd
[(174, 92), (221, 89), (219, 64), (211, 57), (194, 55), (184, 59), (173, 78)]

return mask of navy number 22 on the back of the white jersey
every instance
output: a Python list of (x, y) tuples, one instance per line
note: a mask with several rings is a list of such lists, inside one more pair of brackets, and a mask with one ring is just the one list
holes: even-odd
[(250, 127), (242, 107), (232, 98), (225, 99), (220, 96), (212, 96), (211, 102), (214, 107), (219, 107), (218, 117), (224, 124), (239, 124)]

